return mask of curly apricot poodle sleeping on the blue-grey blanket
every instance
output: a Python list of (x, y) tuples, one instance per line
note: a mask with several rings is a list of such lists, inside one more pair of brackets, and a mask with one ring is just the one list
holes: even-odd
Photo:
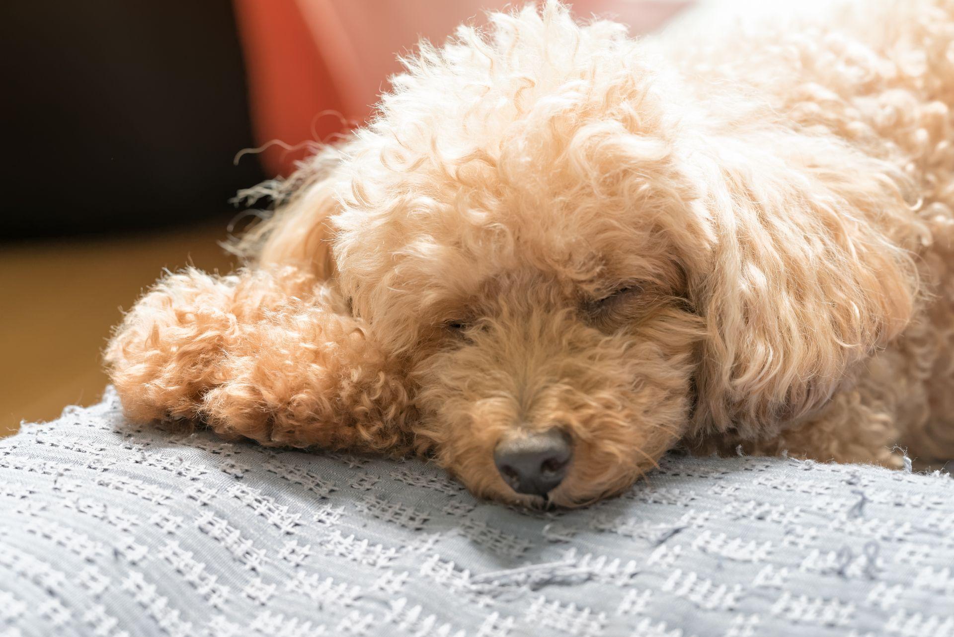
[(637, 40), (548, 0), (423, 43), (242, 269), (126, 314), (126, 414), (530, 506), (674, 448), (951, 457), (954, 1), (839, 15)]

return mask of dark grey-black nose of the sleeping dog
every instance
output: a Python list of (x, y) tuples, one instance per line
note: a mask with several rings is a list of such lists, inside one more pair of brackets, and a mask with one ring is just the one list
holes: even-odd
[(502, 441), (493, 462), (517, 493), (544, 496), (563, 482), (573, 457), (570, 437), (559, 429)]

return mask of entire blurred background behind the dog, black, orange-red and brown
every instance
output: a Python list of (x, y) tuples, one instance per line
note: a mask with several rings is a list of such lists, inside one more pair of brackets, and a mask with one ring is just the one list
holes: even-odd
[[(121, 308), (163, 269), (235, 265), (220, 242), (248, 218), (239, 189), (360, 126), (420, 37), (507, 4), (4, 3), (0, 435), (96, 401)], [(571, 4), (635, 34), (695, 3)]]

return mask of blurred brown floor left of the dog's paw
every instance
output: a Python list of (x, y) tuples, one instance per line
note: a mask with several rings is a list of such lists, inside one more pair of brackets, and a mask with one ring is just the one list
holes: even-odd
[(20, 421), (56, 418), (68, 404), (89, 405), (107, 379), (100, 353), (110, 328), (142, 289), (195, 264), (228, 271), (218, 245), (225, 225), (118, 238), (0, 245), (0, 436)]

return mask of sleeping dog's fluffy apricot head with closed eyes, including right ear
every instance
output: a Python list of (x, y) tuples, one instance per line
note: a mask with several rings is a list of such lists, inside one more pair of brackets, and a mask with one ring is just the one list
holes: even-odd
[(555, 3), (491, 23), (425, 45), (301, 199), (332, 229), (307, 257), (406, 361), (419, 445), (471, 490), (618, 492), (680, 439), (805, 418), (898, 332), (886, 164), (701, 100), (619, 25)]

